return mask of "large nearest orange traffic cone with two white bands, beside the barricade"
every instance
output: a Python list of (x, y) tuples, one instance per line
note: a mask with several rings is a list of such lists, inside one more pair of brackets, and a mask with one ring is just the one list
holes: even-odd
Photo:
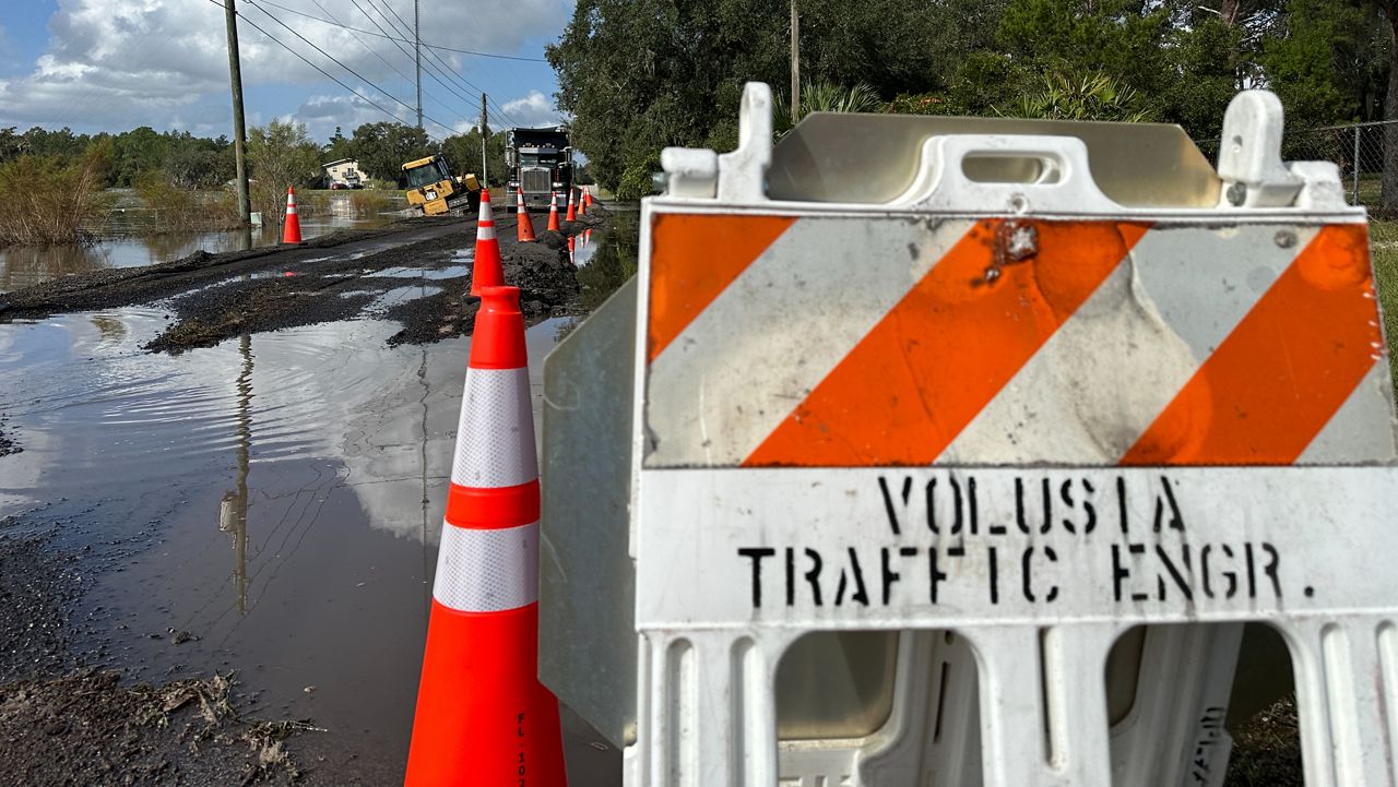
[(405, 787), (563, 787), (538, 682), (538, 463), (519, 288), (487, 287), (432, 586)]

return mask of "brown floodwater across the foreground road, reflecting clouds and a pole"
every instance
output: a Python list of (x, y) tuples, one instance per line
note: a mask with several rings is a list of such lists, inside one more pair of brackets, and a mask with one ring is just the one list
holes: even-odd
[[(577, 250), (584, 295), (622, 284), (604, 268), (628, 266), (591, 264), (610, 246)], [(438, 289), (403, 275), (400, 298)], [(528, 330), (535, 424), (570, 323)], [(470, 340), (390, 348), (398, 326), (369, 317), (141, 351), (165, 324), (129, 308), (0, 326), (0, 415), (24, 447), (0, 459), (0, 517), (127, 551), (80, 602), (105, 665), (236, 670), (252, 716), (324, 730), (292, 744), (312, 776), (400, 781)], [(573, 784), (619, 784), (612, 746), (570, 713), (565, 735)]]

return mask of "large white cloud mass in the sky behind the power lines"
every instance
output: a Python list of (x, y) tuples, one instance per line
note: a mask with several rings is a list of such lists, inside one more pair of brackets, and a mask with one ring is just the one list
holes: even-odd
[[(326, 17), (327, 11), (315, 0), (275, 0), (278, 6), (303, 14)], [(411, 22), (411, 4), (403, 0), (377, 0), (361, 4), (376, 11), (387, 4)], [(382, 17), (369, 17), (343, 3), (320, 3), (347, 25), (379, 31), (377, 25), (394, 35), (397, 28)], [(405, 7), (404, 7), (405, 6)], [(0, 126), (43, 124), (73, 126), (75, 129), (130, 129), (148, 124), (172, 127), (182, 119), (182, 127), (224, 129), (229, 123), (228, 109), (228, 53), (221, 3), (210, 0), (57, 0), (57, 11), (49, 20), (49, 45), (28, 74), (11, 74), (0, 81)], [(482, 52), (513, 52), (521, 43), (540, 36), (555, 35), (570, 15), (568, 0), (516, 0), (505, 3), (424, 3), (424, 41), (459, 49)], [(394, 113), (407, 112), (401, 105), (369, 89), (362, 80), (344, 73), (287, 28), (263, 14), (274, 14), (316, 46), (333, 55), (362, 80), (380, 84), (401, 96), (411, 91), (403, 74), (412, 74), (411, 59), (393, 42), (379, 36), (351, 32), (319, 21), (267, 6), (261, 0), (239, 1), (239, 49), (242, 52), (243, 85), (249, 109), (266, 101), (268, 89), (275, 94), (294, 92), (296, 85), (308, 92), (338, 91), (340, 115), (327, 115), (330, 96), (310, 95), (302, 110), (308, 122), (324, 122), (331, 127), (359, 119), (362, 102), (343, 95), (324, 75), (305, 64), (253, 28), (261, 27), (277, 39), (303, 53), (308, 59), (334, 74)], [(397, 22), (397, 18), (389, 15)], [(375, 24), (377, 22), (377, 25)], [(362, 43), (361, 43), (362, 42)], [(369, 45), (370, 52), (365, 45)], [(407, 45), (404, 45), (407, 48)], [(0, 57), (4, 38), (0, 31)], [(480, 67), (478, 59), (440, 53), (453, 68)], [(440, 67), (435, 57), (424, 55), (424, 87), (438, 85), (428, 75)], [(289, 88), (282, 85), (291, 85)], [(319, 103), (317, 103), (319, 99)], [(411, 98), (403, 98), (412, 103)], [(295, 98), (291, 99), (292, 102)], [(376, 117), (383, 113), (369, 108)], [(403, 115), (410, 117), (411, 113)], [(362, 117), (368, 119), (366, 115)], [(197, 119), (197, 120), (192, 120)], [(443, 119), (445, 120), (445, 119)], [(363, 122), (363, 120), (359, 120)], [(440, 129), (439, 129), (440, 131)]]

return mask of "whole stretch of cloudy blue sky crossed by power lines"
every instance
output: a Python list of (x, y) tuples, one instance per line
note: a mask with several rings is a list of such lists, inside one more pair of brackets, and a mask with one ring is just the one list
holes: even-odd
[[(336, 126), (348, 136), (390, 115), (415, 122), (412, 48), (386, 38), (407, 38), (397, 25), (411, 25), (412, 0), (238, 0), (238, 8), (246, 17), (239, 49), (250, 126), (292, 117), (324, 141)], [(572, 11), (570, 0), (424, 0), (422, 42), (541, 59)], [(474, 126), (481, 89), (492, 127), (559, 119), (548, 63), (424, 49), (422, 68), (424, 126), (433, 137)], [(231, 117), (221, 0), (0, 0), (0, 127), (151, 126), (218, 136), (231, 133)]]

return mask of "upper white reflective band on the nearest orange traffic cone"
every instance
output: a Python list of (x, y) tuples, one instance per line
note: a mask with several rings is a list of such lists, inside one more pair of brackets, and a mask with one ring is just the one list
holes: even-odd
[(452, 482), (475, 489), (538, 478), (528, 369), (467, 369)]

